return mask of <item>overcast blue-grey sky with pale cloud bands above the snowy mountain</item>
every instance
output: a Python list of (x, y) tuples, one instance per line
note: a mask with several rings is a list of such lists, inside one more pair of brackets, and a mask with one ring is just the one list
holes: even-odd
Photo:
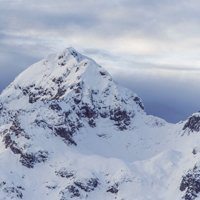
[(177, 122), (200, 110), (199, 0), (0, 0), (0, 91), (73, 46)]

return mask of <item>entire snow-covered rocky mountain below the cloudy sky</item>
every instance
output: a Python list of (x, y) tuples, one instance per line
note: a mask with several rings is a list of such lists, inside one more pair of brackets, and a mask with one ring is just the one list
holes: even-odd
[(0, 95), (0, 199), (198, 200), (200, 113), (178, 124), (73, 48)]

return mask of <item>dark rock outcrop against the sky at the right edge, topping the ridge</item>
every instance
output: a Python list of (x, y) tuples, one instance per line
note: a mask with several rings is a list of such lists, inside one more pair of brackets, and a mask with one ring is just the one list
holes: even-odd
[(183, 130), (189, 129), (190, 131), (199, 132), (200, 131), (200, 115), (191, 116), (185, 123)]

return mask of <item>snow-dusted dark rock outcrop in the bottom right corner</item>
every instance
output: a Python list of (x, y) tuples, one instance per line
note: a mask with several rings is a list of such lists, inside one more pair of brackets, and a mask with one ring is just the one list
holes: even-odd
[(195, 166), (192, 170), (189, 170), (185, 176), (183, 176), (180, 190), (185, 191), (183, 199), (194, 200), (200, 193), (200, 167)]

